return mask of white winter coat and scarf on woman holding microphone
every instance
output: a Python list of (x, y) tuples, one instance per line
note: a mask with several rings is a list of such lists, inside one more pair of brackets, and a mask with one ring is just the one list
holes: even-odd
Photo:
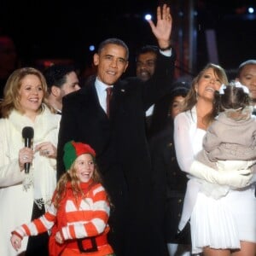
[[(51, 142), (57, 147), (61, 116), (50, 113), (48, 108), (40, 113), (34, 122), (13, 110), (8, 119), (0, 119), (0, 255), (13, 256), (26, 250), (27, 237), (17, 253), (10, 243), (10, 232), (32, 217), (34, 200), (44, 202), (51, 199), (56, 185), (56, 162), (39, 153), (34, 154), (30, 174), (33, 186), (25, 190), (22, 182), (24, 171), (20, 172), (19, 150), (24, 147), (22, 129), (34, 129), (33, 147), (38, 143)], [(45, 205), (47, 207), (47, 204)]]

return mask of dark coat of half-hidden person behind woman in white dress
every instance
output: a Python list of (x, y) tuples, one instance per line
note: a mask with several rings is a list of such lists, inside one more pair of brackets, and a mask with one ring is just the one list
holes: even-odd
[(173, 141), (173, 120), (167, 120), (165, 129), (149, 140), (153, 166), (153, 200), (155, 218), (165, 230), (166, 242), (190, 244), (189, 225), (177, 236), (177, 226), (183, 210), (188, 177), (177, 164)]

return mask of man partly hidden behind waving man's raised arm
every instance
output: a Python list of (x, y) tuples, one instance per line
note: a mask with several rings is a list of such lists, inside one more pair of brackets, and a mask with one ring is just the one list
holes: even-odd
[[(158, 56), (158, 47), (154, 45), (144, 45), (137, 50), (136, 56), (136, 76), (138, 79), (146, 82), (155, 71)], [(170, 81), (172, 83), (172, 81)], [(147, 137), (153, 137), (159, 131), (164, 129), (168, 119), (168, 109), (171, 102), (171, 90), (160, 100), (151, 105), (146, 111), (146, 129)]]

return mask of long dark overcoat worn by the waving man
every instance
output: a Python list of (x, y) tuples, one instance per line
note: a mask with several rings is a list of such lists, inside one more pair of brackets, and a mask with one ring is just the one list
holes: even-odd
[[(146, 83), (130, 78), (114, 84), (109, 119), (98, 101), (95, 80), (63, 98), (57, 176), (64, 172), (64, 143), (89, 143), (96, 150), (96, 161), (114, 205), (113, 230), (127, 236), (122, 255), (156, 255), (150, 228), (151, 165), (144, 113), (169, 90), (174, 58), (160, 55), (156, 66), (153, 78)], [(118, 239), (122, 240), (121, 234)]]

